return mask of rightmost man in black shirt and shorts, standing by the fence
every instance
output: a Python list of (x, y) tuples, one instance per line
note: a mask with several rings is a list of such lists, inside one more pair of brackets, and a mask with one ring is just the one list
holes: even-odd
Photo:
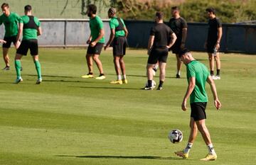
[[(210, 76), (213, 79), (220, 79), (220, 56), (218, 50), (220, 49), (220, 39), (222, 36), (222, 25), (220, 20), (216, 18), (214, 8), (206, 8), (208, 14), (208, 37), (205, 43), (205, 47), (208, 52), (210, 63)], [(213, 58), (214, 57), (214, 58)], [(214, 59), (216, 61), (217, 74), (214, 76)]]

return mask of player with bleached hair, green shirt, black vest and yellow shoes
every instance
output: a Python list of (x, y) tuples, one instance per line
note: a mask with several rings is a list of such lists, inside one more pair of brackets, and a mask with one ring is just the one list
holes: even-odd
[(110, 18), (111, 33), (110, 40), (107, 42), (107, 45), (104, 47), (104, 50), (106, 50), (107, 47), (110, 47), (110, 44), (112, 44), (114, 56), (114, 69), (117, 73), (117, 80), (111, 81), (110, 84), (127, 84), (128, 81), (125, 74), (124, 55), (127, 45), (128, 30), (125, 27), (122, 18), (117, 18), (116, 12), (117, 11), (115, 8), (110, 8), (107, 12)]

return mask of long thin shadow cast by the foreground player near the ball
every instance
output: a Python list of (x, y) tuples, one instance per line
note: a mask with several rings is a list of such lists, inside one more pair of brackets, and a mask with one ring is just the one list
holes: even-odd
[(157, 156), (112, 156), (112, 155), (55, 155), (55, 157), (77, 157), (94, 159), (159, 159), (159, 160), (184, 160), (177, 157), (157, 157)]

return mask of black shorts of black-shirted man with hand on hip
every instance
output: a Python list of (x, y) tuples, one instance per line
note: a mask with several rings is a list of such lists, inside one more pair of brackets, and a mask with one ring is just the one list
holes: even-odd
[(153, 48), (150, 52), (148, 64), (156, 64), (156, 62), (167, 62), (168, 48)]

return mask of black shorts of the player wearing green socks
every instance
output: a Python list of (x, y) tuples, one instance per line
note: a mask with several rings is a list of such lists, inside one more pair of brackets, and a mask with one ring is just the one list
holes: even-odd
[(38, 40), (22, 40), (16, 53), (19, 55), (27, 55), (28, 49), (31, 55), (38, 55)]

